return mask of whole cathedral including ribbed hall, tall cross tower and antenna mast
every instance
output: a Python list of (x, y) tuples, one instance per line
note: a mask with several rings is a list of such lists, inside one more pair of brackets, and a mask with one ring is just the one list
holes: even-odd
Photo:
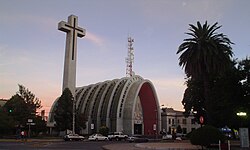
[[(63, 90), (69, 88), (74, 95), (76, 111), (86, 118), (86, 129), (80, 134), (98, 133), (106, 126), (110, 132), (128, 135), (155, 135), (161, 129), (160, 107), (153, 83), (132, 74), (131, 58), (128, 59), (130, 76), (75, 88), (76, 39), (85, 36), (85, 29), (77, 26), (77, 16), (68, 17), (68, 22), (58, 24), (60, 31), (67, 33), (64, 62)], [(131, 40), (129, 41), (130, 50)], [(129, 57), (132, 57), (131, 53)], [(52, 132), (56, 122), (54, 101), (47, 126)], [(74, 133), (74, 127), (73, 127)]]

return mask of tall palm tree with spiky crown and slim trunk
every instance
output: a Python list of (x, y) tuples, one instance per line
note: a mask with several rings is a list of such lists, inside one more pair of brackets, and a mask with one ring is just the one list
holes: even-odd
[(201, 80), (204, 88), (205, 109), (209, 111), (209, 89), (212, 77), (221, 74), (231, 63), (233, 55), (231, 44), (226, 35), (217, 33), (221, 27), (216, 22), (212, 26), (207, 21), (197, 27), (190, 24), (191, 38), (184, 39), (179, 46), (179, 65), (184, 68), (189, 79)]

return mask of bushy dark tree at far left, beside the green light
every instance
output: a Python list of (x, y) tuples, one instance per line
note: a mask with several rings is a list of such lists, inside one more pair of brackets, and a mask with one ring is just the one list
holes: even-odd
[[(38, 129), (33, 131), (44, 131), (46, 129), (45, 121), (41, 117), (36, 116), (36, 110), (42, 107), (41, 101), (24, 86), (18, 86), (19, 91), (2, 108), (3, 113), (5, 113), (3, 117), (5, 115), (8, 117), (5, 128), (12, 128), (15, 131), (16, 127), (24, 128), (28, 119), (33, 119), (34, 123), (36, 123), (36, 126), (33, 128)], [(1, 127), (1, 129), (4, 128)]]

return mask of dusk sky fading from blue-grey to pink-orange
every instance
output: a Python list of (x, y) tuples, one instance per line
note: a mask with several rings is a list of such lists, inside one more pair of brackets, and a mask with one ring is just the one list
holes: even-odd
[(77, 39), (77, 87), (125, 77), (131, 36), (135, 74), (153, 83), (161, 105), (182, 110), (176, 52), (189, 24), (218, 22), (241, 60), (250, 52), (249, 8), (249, 0), (0, 0), (0, 99), (21, 84), (49, 111), (62, 92), (66, 34), (57, 26), (74, 14), (86, 29)]

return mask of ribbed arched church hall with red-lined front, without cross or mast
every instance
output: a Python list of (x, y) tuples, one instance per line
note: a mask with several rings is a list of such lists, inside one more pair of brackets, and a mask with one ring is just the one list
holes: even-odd
[[(76, 110), (87, 118), (81, 134), (99, 131), (101, 126), (110, 132), (155, 135), (159, 133), (160, 107), (155, 88), (149, 80), (138, 75), (104, 81), (76, 88)], [(54, 102), (48, 125), (54, 127)]]

